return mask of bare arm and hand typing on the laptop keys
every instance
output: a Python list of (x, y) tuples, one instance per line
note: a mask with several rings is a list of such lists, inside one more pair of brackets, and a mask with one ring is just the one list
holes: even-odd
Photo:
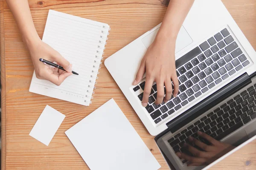
[[(143, 106), (148, 104), (153, 82), (157, 83), (156, 104), (167, 102), (172, 94), (176, 97), (179, 91), (179, 82), (175, 67), (175, 43), (186, 15), (192, 7), (194, 0), (170, 0), (163, 23), (154, 42), (148, 48), (141, 60), (133, 85), (137, 85), (146, 72), (146, 83), (143, 94)], [(172, 92), (172, 82), (174, 91)], [(164, 86), (166, 96), (164, 98)]]

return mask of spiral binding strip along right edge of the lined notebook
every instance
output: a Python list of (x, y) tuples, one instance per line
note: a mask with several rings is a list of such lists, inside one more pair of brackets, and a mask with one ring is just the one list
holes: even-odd
[(97, 75), (99, 74), (99, 69), (101, 69), (100, 65), (102, 65), (101, 60), (103, 59), (102, 55), (104, 55), (104, 50), (105, 50), (105, 45), (107, 44), (107, 40), (108, 40), (108, 35), (111, 29), (108, 28), (107, 26), (102, 26), (102, 30), (101, 30), (101, 35), (99, 36), (99, 45), (97, 46), (97, 50), (96, 50), (96, 55), (95, 55), (95, 59), (93, 60), (93, 68), (92, 68), (92, 75), (90, 75), (90, 80), (89, 80), (89, 85), (88, 88), (90, 88), (91, 90), (87, 90), (87, 94), (85, 95), (85, 97), (87, 99), (84, 100), (84, 102), (86, 103), (92, 103), (90, 100), (93, 99), (93, 94), (94, 94), (94, 89), (96, 89), (96, 87), (94, 86), (95, 84), (97, 84), (97, 82), (95, 81), (96, 79), (98, 79), (99, 77), (97, 77)]

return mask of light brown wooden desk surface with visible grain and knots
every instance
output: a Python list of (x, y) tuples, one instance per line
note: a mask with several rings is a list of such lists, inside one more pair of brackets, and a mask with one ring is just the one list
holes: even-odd
[[(108, 23), (111, 32), (104, 56), (107, 58), (159, 24), (166, 11), (166, 2), (167, 0), (29, 0), (29, 5), (40, 37), (43, 36), (49, 9)], [(223, 3), (256, 49), (256, 0), (223, 0)], [(34, 68), (4, 0), (0, 0), (0, 26), (2, 170), (89, 169), (64, 132), (112, 97), (161, 164), (161, 170), (169, 169), (154, 142), (154, 136), (145, 129), (104, 65), (90, 107), (29, 93)], [(46, 105), (66, 115), (48, 147), (29, 136)], [(256, 169), (256, 141), (212, 167), (212, 170), (221, 169)]]

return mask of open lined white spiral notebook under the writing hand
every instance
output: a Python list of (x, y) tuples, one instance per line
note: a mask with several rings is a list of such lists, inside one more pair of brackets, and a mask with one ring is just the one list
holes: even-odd
[(36, 78), (34, 71), (29, 91), (90, 105), (109, 30), (108, 24), (49, 10), (42, 40), (67, 59), (79, 75), (71, 75), (57, 86)]

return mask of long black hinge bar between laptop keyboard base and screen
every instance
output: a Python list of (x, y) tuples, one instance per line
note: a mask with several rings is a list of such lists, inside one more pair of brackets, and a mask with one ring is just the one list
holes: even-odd
[(181, 127), (191, 122), (193, 119), (197, 118), (201, 114), (208, 111), (210, 108), (217, 105), (219, 102), (226, 99), (228, 96), (236, 93), (236, 91), (245, 87), (251, 83), (251, 79), (247, 73), (242, 74), (237, 79), (230, 82), (228, 85), (224, 86), (220, 90), (216, 91), (211, 96), (204, 99), (202, 102), (190, 108), (188, 111), (182, 113), (180, 116), (177, 116), (175, 119), (169, 121), (166, 125), (169, 130), (174, 133), (179, 130)]

